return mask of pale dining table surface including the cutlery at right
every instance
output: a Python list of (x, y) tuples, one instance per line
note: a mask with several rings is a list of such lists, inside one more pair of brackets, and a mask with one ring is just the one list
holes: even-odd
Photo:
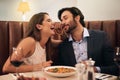
[[(17, 80), (15, 73), (9, 73), (6, 75), (1, 75), (0, 80)], [(44, 71), (35, 71), (35, 72), (25, 72), (20, 73), (20, 75), (23, 75), (25, 77), (39, 77), (39, 78), (45, 78), (46, 80), (78, 80), (77, 73), (71, 76), (67, 77), (55, 77), (46, 74)], [(105, 75), (102, 77), (102, 75)], [(108, 74), (102, 74), (102, 73), (95, 73), (95, 78), (100, 78), (98, 80), (116, 80), (116, 76), (108, 75)]]

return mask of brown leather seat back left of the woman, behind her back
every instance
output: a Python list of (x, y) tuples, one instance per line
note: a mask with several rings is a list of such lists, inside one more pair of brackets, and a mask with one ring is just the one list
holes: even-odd
[(24, 37), (27, 22), (0, 21), (0, 75), (4, 62), (12, 52), (12, 47), (16, 47), (18, 42)]

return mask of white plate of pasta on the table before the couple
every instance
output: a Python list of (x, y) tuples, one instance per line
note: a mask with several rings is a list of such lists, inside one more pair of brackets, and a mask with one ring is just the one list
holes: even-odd
[(76, 74), (76, 68), (71, 66), (50, 66), (44, 72), (54, 77), (67, 77)]

